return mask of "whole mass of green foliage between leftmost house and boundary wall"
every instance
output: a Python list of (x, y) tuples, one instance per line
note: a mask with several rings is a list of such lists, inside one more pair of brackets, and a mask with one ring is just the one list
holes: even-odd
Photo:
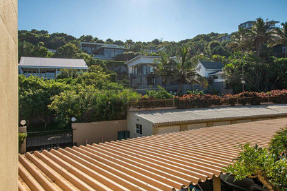
[(30, 131), (67, 128), (71, 116), (81, 122), (122, 119), (127, 101), (138, 97), (100, 66), (62, 70), (55, 80), (19, 75), (19, 120), (26, 119)]

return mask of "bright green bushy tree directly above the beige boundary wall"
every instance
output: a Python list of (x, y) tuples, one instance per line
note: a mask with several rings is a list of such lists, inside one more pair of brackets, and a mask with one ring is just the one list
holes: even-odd
[(97, 90), (87, 86), (55, 95), (48, 107), (56, 112), (56, 120), (65, 127), (70, 125), (71, 117), (79, 122), (124, 119), (128, 101), (137, 99), (139, 94), (129, 90)]

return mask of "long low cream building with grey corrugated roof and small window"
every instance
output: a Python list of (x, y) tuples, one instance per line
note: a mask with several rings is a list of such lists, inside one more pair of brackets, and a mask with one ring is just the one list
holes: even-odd
[(130, 138), (287, 117), (287, 104), (128, 112)]

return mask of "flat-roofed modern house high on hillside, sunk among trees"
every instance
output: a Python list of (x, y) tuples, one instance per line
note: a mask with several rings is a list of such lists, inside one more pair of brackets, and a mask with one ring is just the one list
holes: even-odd
[(124, 46), (106, 43), (80, 43), (81, 50), (93, 55), (95, 59), (114, 60), (118, 54), (123, 54), (127, 50)]

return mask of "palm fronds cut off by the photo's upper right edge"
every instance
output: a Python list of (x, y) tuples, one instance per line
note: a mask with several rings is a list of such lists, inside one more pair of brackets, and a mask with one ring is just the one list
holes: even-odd
[[(276, 28), (273, 31), (273, 41), (269, 46), (284, 45), (287, 48), (287, 22), (281, 23), (282, 28)], [(285, 51), (285, 58), (287, 58), (287, 50)]]

